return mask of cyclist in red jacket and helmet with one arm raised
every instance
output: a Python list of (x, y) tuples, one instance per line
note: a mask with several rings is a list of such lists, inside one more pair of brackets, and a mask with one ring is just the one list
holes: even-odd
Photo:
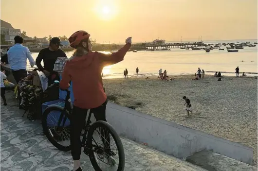
[[(73, 171), (82, 171), (79, 161), (81, 154), (80, 134), (85, 125), (87, 110), (92, 109), (96, 120), (107, 121), (107, 95), (103, 89), (101, 71), (105, 66), (122, 61), (131, 46), (131, 37), (129, 37), (126, 39), (126, 45), (115, 53), (92, 52), (92, 43), (89, 37), (90, 34), (85, 31), (77, 31), (70, 36), (70, 46), (75, 48), (75, 51), (65, 64), (60, 81), (61, 89), (67, 89), (70, 86), (70, 81), (73, 82), (74, 106), (71, 119)], [(109, 137), (107, 141), (109, 141)], [(110, 151), (110, 154), (114, 153)]]

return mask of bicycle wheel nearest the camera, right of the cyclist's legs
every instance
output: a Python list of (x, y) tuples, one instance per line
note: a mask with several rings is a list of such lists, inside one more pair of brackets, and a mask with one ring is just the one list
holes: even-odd
[(92, 124), (88, 132), (87, 147), (95, 171), (124, 171), (124, 147), (108, 122), (96, 121)]

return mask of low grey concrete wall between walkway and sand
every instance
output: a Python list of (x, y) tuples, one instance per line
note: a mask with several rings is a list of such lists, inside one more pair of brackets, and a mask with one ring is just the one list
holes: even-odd
[(114, 103), (107, 105), (107, 120), (120, 136), (147, 143), (149, 147), (179, 158), (207, 149), (252, 164), (253, 149), (250, 147)]

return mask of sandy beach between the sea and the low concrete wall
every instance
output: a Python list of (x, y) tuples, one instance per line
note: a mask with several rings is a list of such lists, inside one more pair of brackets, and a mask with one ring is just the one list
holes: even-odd
[[(252, 147), (257, 166), (258, 80), (227, 76), (217, 81), (212, 75), (195, 81), (194, 75), (173, 77), (172, 81), (130, 77), (104, 79), (103, 83), (114, 103)], [(183, 96), (191, 101), (192, 117), (186, 117)]]

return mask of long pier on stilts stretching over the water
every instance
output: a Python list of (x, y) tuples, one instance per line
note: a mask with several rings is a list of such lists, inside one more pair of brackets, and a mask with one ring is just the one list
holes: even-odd
[(190, 47), (198, 47), (205, 46), (203, 42), (188, 42), (188, 43), (166, 43), (166, 44), (146, 44), (146, 48), (148, 49), (170, 49), (170, 48), (190, 48)]

